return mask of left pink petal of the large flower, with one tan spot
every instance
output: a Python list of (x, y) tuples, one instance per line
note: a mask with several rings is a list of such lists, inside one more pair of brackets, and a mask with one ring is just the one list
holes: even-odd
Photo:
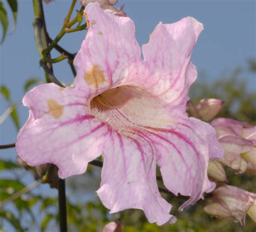
[(30, 117), (16, 149), (30, 166), (54, 163), (60, 178), (66, 178), (84, 173), (87, 163), (102, 154), (109, 128), (93, 119), (75, 88), (39, 85), (23, 104), (30, 107)]

